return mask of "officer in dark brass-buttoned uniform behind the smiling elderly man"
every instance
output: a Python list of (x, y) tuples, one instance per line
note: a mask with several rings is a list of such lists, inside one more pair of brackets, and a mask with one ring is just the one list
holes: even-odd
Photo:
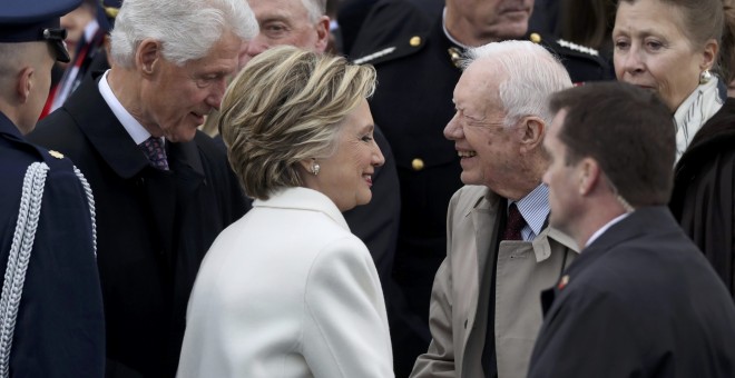
[[(434, 273), (445, 257), (445, 213), (461, 187), (459, 157), (442, 130), (455, 109), (452, 91), (463, 51), (492, 41), (529, 39), (561, 58), (572, 82), (611, 79), (597, 51), (528, 30), (533, 1), (447, 0), (428, 20), (411, 1), (381, 0), (351, 50), (378, 70), (370, 102), (388, 138), (401, 187), (401, 220), (393, 278), (401, 291), (389, 304), (396, 376), (408, 376), (429, 346), (428, 314)], [(396, 311), (396, 308), (403, 310)], [(391, 311), (393, 309), (393, 311)]]

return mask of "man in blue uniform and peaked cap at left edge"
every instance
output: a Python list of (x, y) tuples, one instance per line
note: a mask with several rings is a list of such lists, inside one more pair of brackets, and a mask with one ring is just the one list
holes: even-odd
[(69, 159), (29, 143), (55, 61), (59, 17), (79, 0), (0, 7), (0, 376), (100, 377), (105, 319), (95, 207)]

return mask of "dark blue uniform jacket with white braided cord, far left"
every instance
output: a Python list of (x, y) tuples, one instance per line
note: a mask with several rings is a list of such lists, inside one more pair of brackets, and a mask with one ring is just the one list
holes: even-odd
[(69, 159), (27, 142), (2, 113), (0, 267), (4, 273), (23, 177), (33, 162), (49, 170), (12, 338), (11, 377), (100, 377), (105, 319), (87, 193)]

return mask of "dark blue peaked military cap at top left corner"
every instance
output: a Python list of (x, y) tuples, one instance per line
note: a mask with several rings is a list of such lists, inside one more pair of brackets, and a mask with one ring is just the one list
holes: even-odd
[(0, 43), (47, 41), (56, 59), (68, 62), (67, 31), (59, 27), (59, 18), (79, 4), (81, 0), (2, 0)]

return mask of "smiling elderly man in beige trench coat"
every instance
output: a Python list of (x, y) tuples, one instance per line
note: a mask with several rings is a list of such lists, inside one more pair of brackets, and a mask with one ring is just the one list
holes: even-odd
[(431, 295), (432, 341), (411, 377), (526, 377), (542, 316), (539, 296), (577, 256), (548, 227), (548, 98), (571, 87), (530, 41), (469, 51), (454, 87), (454, 142), (464, 187), (447, 216), (447, 258)]

